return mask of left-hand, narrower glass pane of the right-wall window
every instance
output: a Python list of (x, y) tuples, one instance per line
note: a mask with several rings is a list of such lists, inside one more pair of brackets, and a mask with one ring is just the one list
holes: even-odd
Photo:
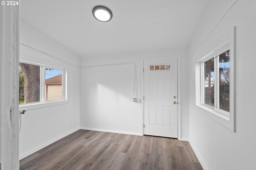
[(214, 57), (204, 62), (204, 104), (214, 107)]

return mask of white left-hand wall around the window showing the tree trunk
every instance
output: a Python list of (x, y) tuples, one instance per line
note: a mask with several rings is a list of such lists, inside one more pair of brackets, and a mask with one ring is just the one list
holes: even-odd
[[(20, 60), (53, 65), (67, 69), (68, 102), (62, 105), (26, 109), (20, 130), (20, 158), (79, 129), (79, 66), (80, 57), (53, 42), (30, 26), (21, 22), (20, 42), (40, 49), (70, 63), (54, 59), (34, 49), (20, 45)], [(74, 66), (76, 67), (74, 67)]]

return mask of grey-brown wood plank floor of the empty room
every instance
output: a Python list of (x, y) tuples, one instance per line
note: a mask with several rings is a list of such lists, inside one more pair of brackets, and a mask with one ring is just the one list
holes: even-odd
[(173, 138), (78, 130), (20, 160), (21, 170), (202, 170)]

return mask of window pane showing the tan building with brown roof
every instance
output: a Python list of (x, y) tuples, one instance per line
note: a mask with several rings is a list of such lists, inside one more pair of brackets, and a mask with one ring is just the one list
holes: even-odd
[(62, 99), (62, 71), (45, 69), (45, 100)]

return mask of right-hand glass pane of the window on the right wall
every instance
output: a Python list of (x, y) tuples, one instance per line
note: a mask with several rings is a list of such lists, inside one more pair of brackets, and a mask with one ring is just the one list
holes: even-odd
[(219, 75), (220, 75), (220, 108), (229, 112), (229, 71), (230, 71), (229, 50), (219, 55)]

